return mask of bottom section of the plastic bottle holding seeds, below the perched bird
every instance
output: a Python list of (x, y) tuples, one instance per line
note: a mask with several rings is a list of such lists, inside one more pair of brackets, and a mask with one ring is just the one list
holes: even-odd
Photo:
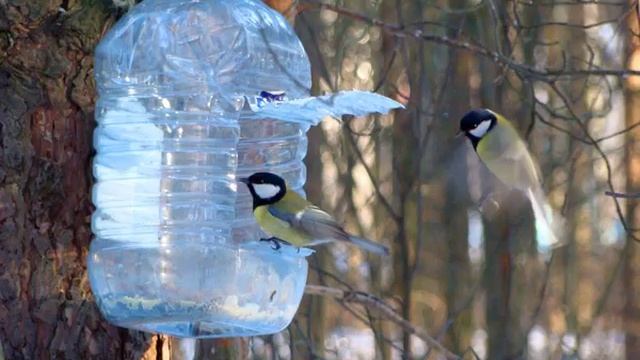
[(306, 277), (304, 256), (259, 242), (247, 248), (95, 239), (89, 254), (89, 279), (107, 320), (178, 337), (281, 331), (295, 315)]

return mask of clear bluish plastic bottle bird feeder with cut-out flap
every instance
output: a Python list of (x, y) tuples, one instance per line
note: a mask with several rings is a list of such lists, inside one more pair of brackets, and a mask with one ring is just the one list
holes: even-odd
[(326, 115), (401, 105), (365, 92), (310, 98), (310, 65), (284, 18), (251, 0), (145, 0), (95, 57), (89, 279), (113, 324), (181, 337), (278, 332), (310, 250), (279, 251), (236, 178), (305, 181), (306, 131)]

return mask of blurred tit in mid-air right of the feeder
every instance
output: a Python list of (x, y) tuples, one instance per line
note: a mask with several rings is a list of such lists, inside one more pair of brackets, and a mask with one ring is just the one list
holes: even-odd
[[(559, 215), (553, 215), (542, 190), (538, 167), (517, 130), (504, 116), (475, 109), (460, 119), (460, 133), (473, 145), (480, 160), (505, 185), (522, 191), (531, 202), (536, 231), (545, 246), (561, 245)], [(540, 238), (540, 236), (539, 236)]]

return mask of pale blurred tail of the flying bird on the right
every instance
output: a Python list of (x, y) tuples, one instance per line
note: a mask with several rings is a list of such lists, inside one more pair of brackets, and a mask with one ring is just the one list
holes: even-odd
[(536, 196), (531, 189), (527, 195), (535, 217), (538, 248), (549, 251), (565, 245), (566, 242), (562, 238), (564, 234), (562, 215), (553, 211), (551, 206), (547, 204), (544, 195)]

